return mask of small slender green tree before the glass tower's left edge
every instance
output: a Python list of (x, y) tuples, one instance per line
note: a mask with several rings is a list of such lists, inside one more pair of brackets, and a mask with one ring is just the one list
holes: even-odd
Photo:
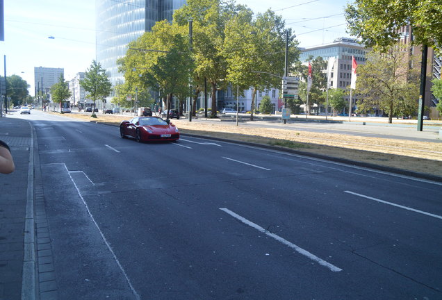
[[(112, 83), (109, 81), (106, 70), (95, 60), (92, 60), (92, 64), (86, 70), (84, 79), (80, 81), (80, 85), (88, 92), (86, 97), (94, 102), (94, 107), (95, 101), (102, 100), (106, 102), (106, 97), (112, 92)], [(95, 116), (93, 110), (92, 116)]]

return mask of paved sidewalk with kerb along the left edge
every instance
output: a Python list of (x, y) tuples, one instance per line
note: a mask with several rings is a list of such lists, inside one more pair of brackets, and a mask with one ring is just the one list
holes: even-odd
[(35, 246), (31, 125), (23, 119), (0, 117), (0, 140), (9, 145), (15, 163), (15, 172), (0, 174), (0, 300), (22, 299), (22, 290), (23, 299), (33, 299)]

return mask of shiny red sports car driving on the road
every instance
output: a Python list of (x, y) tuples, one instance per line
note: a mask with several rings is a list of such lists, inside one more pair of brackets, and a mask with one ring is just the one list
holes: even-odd
[(175, 141), (179, 139), (177, 126), (161, 117), (134, 117), (120, 124), (122, 138), (132, 137), (137, 142)]

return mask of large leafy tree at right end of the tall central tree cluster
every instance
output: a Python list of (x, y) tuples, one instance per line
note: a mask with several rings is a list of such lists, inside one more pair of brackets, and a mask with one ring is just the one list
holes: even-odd
[(243, 89), (253, 88), (250, 119), (253, 119), (256, 92), (281, 88), (287, 30), (288, 66), (291, 67), (299, 58), (298, 42), (275, 12), (267, 10), (255, 17), (251, 10), (244, 9), (226, 23), (223, 53), (229, 66), (227, 80)]

